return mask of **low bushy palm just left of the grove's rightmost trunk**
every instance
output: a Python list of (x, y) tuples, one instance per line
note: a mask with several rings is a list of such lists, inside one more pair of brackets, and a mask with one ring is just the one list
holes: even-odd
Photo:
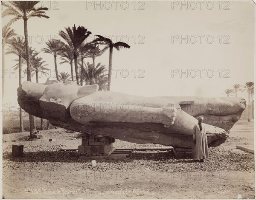
[(106, 68), (104, 65), (101, 65), (99, 62), (96, 67), (93, 66), (93, 64), (90, 64), (87, 62), (87, 65), (85, 65), (84, 69), (84, 78), (86, 85), (93, 85), (96, 84), (97, 80), (102, 78), (104, 75), (104, 72), (106, 71)]

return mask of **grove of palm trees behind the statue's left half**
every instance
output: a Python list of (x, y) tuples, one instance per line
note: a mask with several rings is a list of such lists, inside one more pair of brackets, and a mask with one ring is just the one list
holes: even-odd
[[(19, 56), (19, 70), (20, 70), (20, 76), (21, 76), (21, 68), (22, 64), (27, 65), (27, 80), (31, 81), (31, 76), (36, 74), (36, 82), (38, 82), (38, 72), (40, 71), (43, 74), (47, 74), (45, 70), (47, 68), (44, 68), (45, 65), (43, 63), (45, 61), (42, 61), (42, 58), (35, 58), (39, 52), (33, 53), (32, 47), (29, 47), (28, 43), (28, 28), (27, 28), (27, 20), (31, 17), (43, 17), (49, 19), (49, 16), (47, 16), (46, 11), (48, 10), (45, 7), (37, 7), (38, 1), (29, 1), (29, 2), (12, 2), (13, 5), (9, 3), (2, 2), (1, 5), (6, 7), (6, 10), (3, 12), (2, 17), (5, 16), (14, 16), (12, 20), (9, 21), (9, 23), (3, 27), (2, 32), (3, 35), (5, 35), (5, 38), (3, 38), (3, 54), (5, 54), (5, 47), (10, 46), (10, 48), (19, 48), (21, 53), (18, 53), (16, 50), (7, 52), (8, 54), (16, 54)], [(10, 28), (12, 23), (15, 23), (17, 20), (23, 19), (24, 22), (24, 36), (25, 36), (25, 42), (22, 38), (18, 37), (17, 39), (10, 39), (12, 36), (15, 36), (15, 31)], [(85, 82), (86, 85), (92, 85), (96, 83), (100, 83), (100, 90), (105, 88), (105, 84), (108, 82), (108, 90), (110, 90), (110, 84), (111, 84), (111, 73), (108, 75), (108, 80), (105, 79), (106, 74), (102, 74), (105, 72), (105, 66), (100, 66), (98, 64), (95, 66), (95, 58), (98, 56), (101, 56), (108, 48), (110, 48), (110, 56), (109, 56), (109, 65), (108, 69), (111, 71), (112, 69), (112, 55), (113, 55), (113, 48), (116, 48), (118, 51), (120, 48), (130, 48), (130, 46), (124, 42), (116, 42), (113, 44), (111, 39), (104, 38), (100, 35), (97, 35), (99, 37), (98, 39), (95, 39), (92, 42), (86, 42), (87, 37), (92, 34), (90, 31), (87, 31), (87, 28), (84, 26), (78, 26), (76, 28), (76, 25), (73, 25), (72, 28), (68, 27), (65, 28), (65, 31), (59, 31), (60, 37), (63, 39), (57, 40), (52, 39), (48, 40), (46, 42), (46, 48), (42, 48), (41, 51), (44, 53), (52, 54), (54, 56), (54, 66), (55, 66), (55, 78), (57, 81), (59, 81), (59, 78), (61, 80), (65, 80), (64, 76), (70, 76), (70, 74), (64, 75), (64, 72), (61, 73), (61, 75), (58, 74), (58, 65), (57, 65), (57, 57), (63, 62), (60, 62), (59, 64), (63, 64), (65, 62), (70, 63), (70, 73), (71, 73), (71, 79), (73, 81), (73, 61), (75, 65), (75, 77), (76, 77), (76, 83), (77, 85), (83, 85), (83, 82)], [(19, 45), (19, 47), (17, 47)], [(103, 45), (103, 49), (99, 49), (99, 45)], [(24, 50), (26, 49), (26, 54)], [(34, 50), (35, 51), (35, 50)], [(34, 55), (33, 55), (34, 54)], [(90, 64), (87, 63), (87, 66), (84, 67), (84, 57), (90, 57), (93, 59), (93, 63)], [(4, 59), (3, 59), (3, 68), (4, 68)], [(99, 68), (99, 69), (98, 69)], [(33, 72), (33, 73), (32, 73)], [(92, 72), (92, 73), (91, 73)], [(63, 79), (64, 78), (64, 79)], [(64, 81), (65, 82), (65, 81)], [(4, 83), (4, 79), (3, 79)], [(21, 84), (21, 77), (20, 77), (20, 84)], [(4, 87), (4, 84), (3, 84)], [(20, 112), (22, 110), (20, 109)], [(20, 115), (21, 116), (21, 115)], [(30, 120), (30, 136), (32, 137), (35, 132), (35, 119), (32, 115), (29, 115)], [(20, 119), (20, 131), (23, 131), (23, 125), (22, 125), (22, 119)], [(41, 126), (42, 127), (42, 126)]]

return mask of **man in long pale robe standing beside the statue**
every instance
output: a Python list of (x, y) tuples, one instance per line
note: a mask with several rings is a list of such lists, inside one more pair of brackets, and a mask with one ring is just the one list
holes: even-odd
[(193, 128), (193, 158), (204, 162), (208, 158), (208, 143), (203, 117), (198, 118), (198, 124)]

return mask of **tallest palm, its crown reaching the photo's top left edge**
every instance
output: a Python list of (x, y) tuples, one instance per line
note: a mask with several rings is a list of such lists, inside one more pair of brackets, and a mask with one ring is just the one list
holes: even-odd
[[(1, 1), (1, 5), (5, 6), (7, 9), (3, 11), (2, 17), (5, 16), (14, 16), (12, 20), (9, 21), (8, 25), (16, 22), (17, 20), (23, 19), (24, 25), (24, 36), (26, 43), (26, 57), (27, 57), (27, 80), (31, 81), (30, 74), (30, 55), (29, 55), (29, 38), (28, 38), (28, 25), (27, 21), (31, 17), (44, 17), (49, 19), (49, 17), (45, 14), (45, 11), (48, 8), (45, 7), (35, 7), (35, 5), (39, 3), (39, 1)], [(35, 117), (33, 115), (29, 115), (29, 124), (30, 124), (30, 138), (34, 135), (34, 121)]]

